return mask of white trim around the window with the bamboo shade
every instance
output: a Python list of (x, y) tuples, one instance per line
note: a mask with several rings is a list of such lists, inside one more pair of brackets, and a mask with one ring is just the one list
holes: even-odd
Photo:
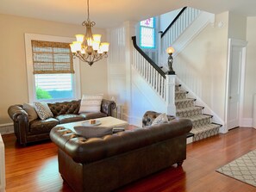
[[(44, 35), (44, 34), (25, 34), (25, 51), (26, 51), (26, 63), (27, 63), (27, 78), (28, 78), (28, 102), (36, 102), (35, 96), (35, 82), (34, 82), (34, 74), (33, 74), (33, 55), (32, 55), (32, 45), (31, 40), (45, 40), (45, 41), (53, 41), (53, 42), (65, 42), (71, 43), (74, 41), (74, 38), (70, 37), (59, 37), (52, 35)], [(72, 99), (81, 98), (81, 83), (80, 83), (80, 63), (79, 59), (73, 59), (73, 67), (75, 73), (74, 76), (74, 96)], [(55, 99), (55, 100), (46, 100), (46, 102), (58, 102), (64, 101), (65, 99)]]

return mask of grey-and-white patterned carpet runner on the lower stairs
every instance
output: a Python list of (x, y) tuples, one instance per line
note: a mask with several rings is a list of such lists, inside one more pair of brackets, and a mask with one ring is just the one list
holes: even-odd
[(211, 121), (212, 115), (204, 115), (203, 107), (195, 106), (196, 99), (187, 98), (188, 92), (181, 89), (181, 85), (176, 85), (175, 105), (176, 116), (188, 118), (192, 121), (193, 127), (190, 133), (194, 133), (193, 141), (208, 138), (219, 133), (222, 125)]

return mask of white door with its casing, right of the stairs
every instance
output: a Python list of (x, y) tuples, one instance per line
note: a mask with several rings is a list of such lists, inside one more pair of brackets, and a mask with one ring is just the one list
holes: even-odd
[(244, 96), (246, 46), (247, 41), (228, 40), (228, 71), (225, 106), (227, 131), (240, 126)]

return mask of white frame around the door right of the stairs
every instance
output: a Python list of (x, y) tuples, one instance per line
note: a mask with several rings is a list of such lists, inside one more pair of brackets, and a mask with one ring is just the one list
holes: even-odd
[(242, 49), (241, 66), (240, 66), (240, 106), (239, 106), (239, 126), (242, 122), (244, 92), (245, 92), (245, 71), (246, 71), (246, 56), (247, 56), (247, 41), (228, 39), (228, 64), (226, 73), (226, 96), (225, 96), (225, 127), (224, 133), (228, 133), (228, 115), (229, 115), (229, 87), (230, 87), (230, 71), (231, 71), (231, 54), (232, 47), (240, 46)]

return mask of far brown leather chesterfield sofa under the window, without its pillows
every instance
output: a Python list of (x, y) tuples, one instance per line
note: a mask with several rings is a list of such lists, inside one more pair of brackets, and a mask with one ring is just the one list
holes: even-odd
[(28, 121), (28, 113), (23, 109), (22, 105), (10, 106), (8, 114), (14, 122), (17, 141), (22, 146), (26, 146), (34, 141), (50, 139), (49, 133), (56, 125), (109, 116), (112, 113), (112, 109), (116, 108), (115, 102), (103, 99), (100, 113), (78, 114), (80, 102), (81, 100), (47, 103), (53, 113), (53, 117), (46, 120), (38, 118), (34, 121)]

